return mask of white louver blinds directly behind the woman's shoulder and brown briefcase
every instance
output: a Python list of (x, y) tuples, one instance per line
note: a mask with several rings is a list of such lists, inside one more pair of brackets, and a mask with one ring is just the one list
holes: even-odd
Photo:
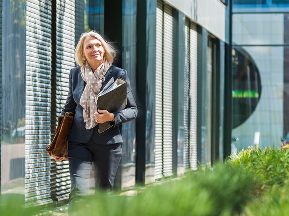
[[(75, 1), (56, 0), (56, 115), (61, 114), (68, 95), (70, 69), (74, 64), (75, 48)], [(56, 119), (55, 119), (56, 120)], [(56, 128), (52, 128), (54, 131)], [(68, 199), (70, 176), (68, 161), (51, 160), (51, 195), (57, 201)]]

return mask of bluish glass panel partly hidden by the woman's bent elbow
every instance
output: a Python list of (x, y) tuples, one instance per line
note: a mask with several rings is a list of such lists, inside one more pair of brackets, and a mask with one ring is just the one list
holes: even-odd
[[(122, 67), (128, 72), (132, 94), (136, 99), (136, 16), (137, 0), (123, 0), (123, 48)], [(122, 189), (135, 186), (136, 122), (122, 125)]]

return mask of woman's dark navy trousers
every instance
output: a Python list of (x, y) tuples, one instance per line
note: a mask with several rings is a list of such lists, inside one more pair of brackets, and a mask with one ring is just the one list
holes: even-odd
[(99, 145), (93, 139), (85, 144), (69, 142), (68, 158), (71, 181), (69, 213), (72, 213), (78, 204), (83, 204), (83, 201), (86, 200), (92, 163), (95, 173), (95, 189), (106, 190), (108, 194), (112, 194), (121, 156), (121, 143)]

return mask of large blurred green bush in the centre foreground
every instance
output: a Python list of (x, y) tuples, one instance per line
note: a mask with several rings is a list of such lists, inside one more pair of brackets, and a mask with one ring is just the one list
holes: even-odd
[(217, 165), (189, 172), (176, 181), (149, 186), (133, 197), (109, 197), (98, 192), (76, 215), (232, 215), (239, 212), (256, 188), (242, 168)]

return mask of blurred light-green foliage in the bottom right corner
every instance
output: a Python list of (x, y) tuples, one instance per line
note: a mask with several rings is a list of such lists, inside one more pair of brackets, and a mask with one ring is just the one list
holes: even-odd
[(289, 185), (275, 185), (267, 190), (261, 198), (248, 202), (242, 216), (285, 216), (289, 213)]

